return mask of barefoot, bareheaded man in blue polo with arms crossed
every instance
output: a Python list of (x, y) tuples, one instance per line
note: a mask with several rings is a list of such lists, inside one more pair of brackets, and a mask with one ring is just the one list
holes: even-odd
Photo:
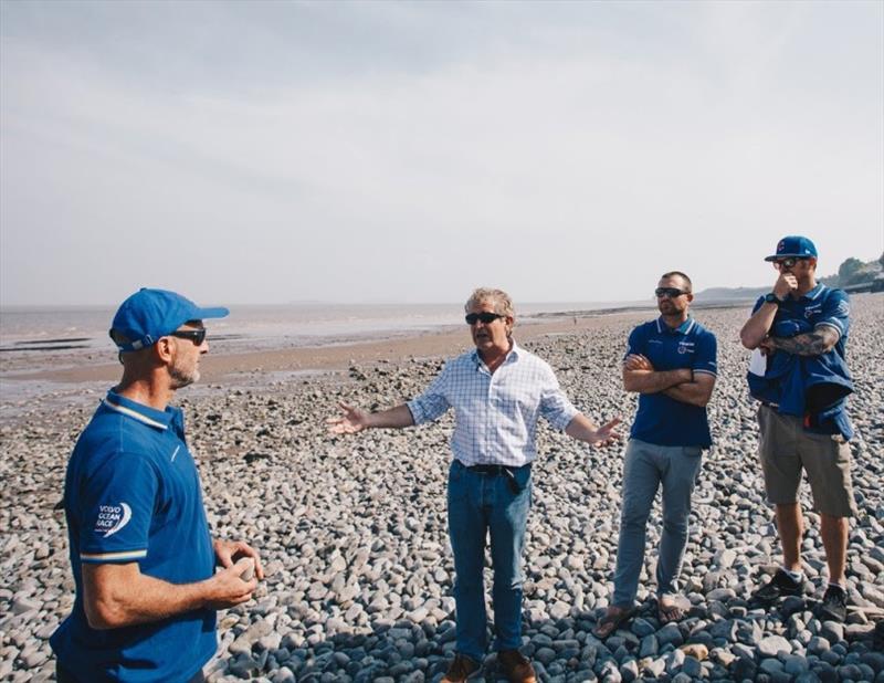
[(691, 493), (701, 455), (712, 445), (706, 403), (715, 387), (717, 345), (715, 336), (688, 316), (694, 295), (687, 275), (665, 273), (655, 294), (661, 315), (632, 330), (623, 361), (623, 386), (639, 393), (639, 411), (623, 459), (614, 593), (593, 629), (598, 638), (607, 638), (634, 613), (645, 527), (661, 484), (657, 611), (664, 623), (684, 616), (675, 580), (687, 544)]

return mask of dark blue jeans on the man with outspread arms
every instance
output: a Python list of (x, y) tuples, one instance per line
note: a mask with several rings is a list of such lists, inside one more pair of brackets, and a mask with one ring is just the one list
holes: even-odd
[(503, 474), (471, 472), (456, 460), (449, 471), (457, 652), (480, 662), (487, 649), (483, 581), (487, 535), (494, 568), (494, 648), (512, 650), (522, 644), (522, 550), (532, 504), (530, 465), (515, 470), (514, 476), (519, 493), (513, 493)]

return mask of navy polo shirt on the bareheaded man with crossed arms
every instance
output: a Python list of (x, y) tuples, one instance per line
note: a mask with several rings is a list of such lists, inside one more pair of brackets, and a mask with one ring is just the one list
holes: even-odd
[[(654, 370), (692, 369), (717, 376), (715, 335), (694, 318), (672, 329), (660, 317), (639, 325), (629, 336), (627, 356), (641, 354)], [(630, 435), (656, 445), (712, 445), (706, 408), (676, 401), (662, 391), (639, 395)]]

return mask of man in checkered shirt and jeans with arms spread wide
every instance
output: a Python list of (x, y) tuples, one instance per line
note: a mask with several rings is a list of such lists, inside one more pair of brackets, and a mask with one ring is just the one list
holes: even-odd
[(449, 473), (449, 536), (454, 553), (457, 650), (443, 682), (465, 681), (485, 655), (482, 580), (485, 537), (494, 566), (494, 630), (497, 662), (511, 681), (530, 683), (535, 672), (522, 655), (522, 551), (530, 507), (532, 462), (537, 456), (537, 419), (587, 443), (618, 439), (619, 419), (597, 428), (559, 388), (552, 369), (512, 336), (515, 312), (501, 290), (480, 288), (466, 302), (466, 323), (476, 346), (449, 361), (424, 393), (408, 403), (367, 413), (341, 403), (329, 420), (334, 433), (404, 428), (454, 409)]

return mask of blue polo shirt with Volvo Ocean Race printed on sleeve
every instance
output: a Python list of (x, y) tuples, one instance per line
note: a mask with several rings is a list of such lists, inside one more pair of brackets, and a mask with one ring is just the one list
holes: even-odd
[(95, 630), (83, 610), (81, 571), (84, 563), (138, 563), (141, 574), (170, 584), (214, 572), (181, 410), (108, 392), (67, 463), (64, 505), (76, 598), (50, 639), (59, 662), (84, 683), (189, 680), (214, 654), (214, 610)]

